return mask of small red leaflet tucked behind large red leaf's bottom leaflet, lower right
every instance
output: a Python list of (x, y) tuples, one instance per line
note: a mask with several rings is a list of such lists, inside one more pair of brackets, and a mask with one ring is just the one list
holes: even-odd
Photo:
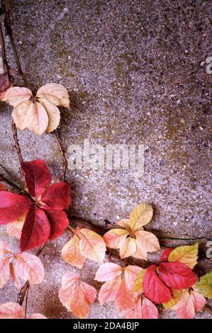
[(67, 214), (63, 210), (47, 210), (46, 215), (50, 221), (51, 231), (50, 239), (56, 239), (61, 236), (69, 225)]

